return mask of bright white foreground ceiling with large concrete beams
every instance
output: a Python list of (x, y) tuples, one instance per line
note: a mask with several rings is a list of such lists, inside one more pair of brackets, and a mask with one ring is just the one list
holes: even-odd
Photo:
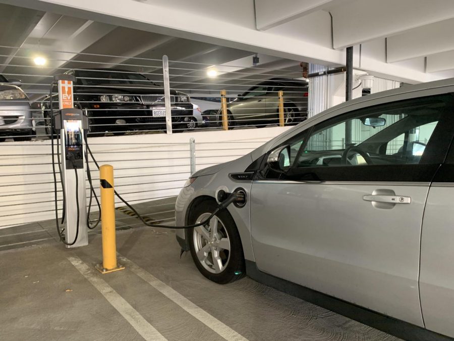
[(454, 76), (451, 0), (0, 0), (410, 83)]

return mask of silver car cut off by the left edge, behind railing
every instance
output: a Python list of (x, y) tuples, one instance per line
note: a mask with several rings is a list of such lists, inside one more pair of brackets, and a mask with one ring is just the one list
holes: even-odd
[(12, 136), (15, 141), (32, 138), (34, 121), (26, 93), (18, 79), (0, 75), (0, 142)]

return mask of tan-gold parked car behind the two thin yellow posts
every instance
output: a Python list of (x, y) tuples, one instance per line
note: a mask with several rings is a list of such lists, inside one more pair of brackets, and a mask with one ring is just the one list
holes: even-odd
[[(286, 125), (299, 123), (307, 118), (308, 83), (304, 80), (271, 78), (259, 83), (227, 104), (229, 127), (256, 125), (264, 127), (279, 121), (278, 91), (283, 91), (284, 120)], [(221, 110), (218, 111), (222, 125)]]

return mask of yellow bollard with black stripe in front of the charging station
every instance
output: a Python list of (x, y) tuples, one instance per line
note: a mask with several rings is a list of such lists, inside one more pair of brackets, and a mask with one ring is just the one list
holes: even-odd
[(110, 165), (99, 167), (99, 179), (101, 184), (102, 264), (96, 265), (96, 269), (101, 273), (109, 273), (125, 268), (117, 263), (113, 167)]

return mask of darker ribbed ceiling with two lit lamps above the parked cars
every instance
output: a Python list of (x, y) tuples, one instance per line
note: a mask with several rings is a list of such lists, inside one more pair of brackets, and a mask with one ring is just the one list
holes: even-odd
[[(301, 77), (299, 61), (261, 54), (259, 67), (254, 68), (253, 52), (181, 37), (5, 4), (0, 4), (0, 18), (0, 73), (21, 78), (25, 89), (32, 87), (27, 83), (50, 81), (49, 77), (27, 75), (53, 75), (72, 68), (122, 68), (161, 80), (163, 55), (175, 66), (173, 86), (193, 93), (200, 83), (232, 84), (234, 80), (235, 84), (255, 84), (255, 79), (269, 78), (263, 75), (269, 70), (284, 77)], [(33, 64), (35, 55), (47, 58), (44, 68)], [(221, 79), (207, 77), (210, 65), (219, 71), (224, 68)]]

